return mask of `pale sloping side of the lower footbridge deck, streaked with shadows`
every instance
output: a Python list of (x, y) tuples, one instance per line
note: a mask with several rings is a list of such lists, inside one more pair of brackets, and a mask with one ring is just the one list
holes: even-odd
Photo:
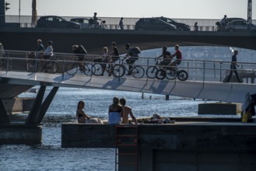
[(185, 82), (177, 80), (132, 79), (89, 77), (84, 75), (61, 75), (27, 72), (9, 72), (2, 75), (1, 82), (22, 86), (78, 87), (84, 89), (112, 89), (130, 92), (148, 92), (196, 99), (212, 99), (225, 102), (243, 103), (247, 92), (255, 94), (255, 85), (223, 82)]

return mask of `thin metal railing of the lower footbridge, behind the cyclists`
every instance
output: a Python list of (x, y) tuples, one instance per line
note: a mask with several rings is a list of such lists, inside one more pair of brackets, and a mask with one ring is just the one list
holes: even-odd
[[(74, 58), (75, 57), (75, 58)], [(54, 53), (50, 59), (40, 58), (40, 55), (36, 52), (29, 51), (5, 51), (5, 56), (1, 58), (0, 63), (0, 71), (3, 72), (47, 72), (45, 68), (40, 66), (42, 63), (45, 64), (47, 61), (55, 62), (58, 64), (58, 68), (56, 68), (55, 74), (62, 75), (62, 79), (64, 79), (68, 74), (67, 64), (68, 63), (77, 63), (89, 65), (89, 68), (93, 69), (93, 65), (96, 63), (100, 63), (101, 65), (105, 64), (104, 62), (96, 61), (96, 59), (102, 58), (99, 54), (86, 54), (80, 56), (80, 58), (84, 58), (85, 61), (77, 61), (79, 57), (75, 56), (75, 54), (63, 54), (63, 53)], [(121, 55), (120, 59), (122, 60), (124, 55)], [(121, 65), (121, 60), (116, 61), (113, 65)], [(27, 71), (28, 61), (35, 61), (34, 65), (37, 65), (37, 70)], [(128, 64), (124, 60), (124, 66), (128, 69)], [(184, 70), (188, 72), (188, 80), (187, 81), (198, 81), (198, 82), (226, 82), (227, 76), (230, 74), (230, 61), (206, 61), (206, 60), (186, 60), (183, 59), (181, 65), (178, 65), (179, 70)], [(244, 80), (244, 83), (254, 84), (254, 79), (256, 78), (256, 63), (248, 63), (248, 62), (237, 62), (239, 67), (237, 68), (237, 72), (240, 75), (240, 78)], [(32, 64), (30, 64), (32, 65)], [(146, 58), (141, 57), (138, 61), (135, 61), (135, 65), (142, 66), (144, 69), (144, 75), (142, 75), (141, 79), (149, 79), (147, 76), (147, 68), (150, 66), (156, 66), (155, 58)], [(157, 66), (159, 68), (159, 66)], [(100, 68), (101, 69), (101, 68)], [(93, 70), (92, 70), (93, 71)], [(54, 73), (52, 72), (52, 73)], [(128, 71), (126, 71), (128, 73)], [(89, 72), (85, 75), (84, 71), (80, 71), (79, 68), (75, 75), (81, 75), (85, 77), (96, 77), (93, 73)], [(100, 76), (99, 76), (100, 77)], [(101, 77), (107, 77), (113, 79), (112, 76), (102, 75)], [(124, 75), (126, 78), (132, 78), (131, 75)], [(177, 79), (174, 79), (177, 80)], [(235, 75), (231, 78), (230, 82), (237, 82)]]

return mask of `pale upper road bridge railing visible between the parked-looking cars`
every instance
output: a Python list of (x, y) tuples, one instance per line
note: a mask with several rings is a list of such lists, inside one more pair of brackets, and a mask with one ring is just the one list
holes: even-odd
[[(61, 16), (68, 21), (72, 18), (82, 18), (81, 16)], [(90, 19), (92, 16), (84, 16), (83, 18)], [(121, 17), (98, 17), (99, 19), (105, 20), (109, 30), (119, 30), (118, 23)], [(37, 16), (40, 19), (40, 16)], [(139, 18), (124, 18), (124, 30), (134, 30), (135, 23)], [(191, 31), (195, 30), (195, 22), (198, 23), (199, 31), (214, 31), (216, 29), (216, 22), (220, 19), (174, 19), (178, 23), (185, 23), (190, 26)], [(10, 27), (33, 27), (31, 24), (32, 16), (0, 16), (1, 21), (4, 21)], [(252, 20), (253, 24), (256, 24), (256, 20)]]

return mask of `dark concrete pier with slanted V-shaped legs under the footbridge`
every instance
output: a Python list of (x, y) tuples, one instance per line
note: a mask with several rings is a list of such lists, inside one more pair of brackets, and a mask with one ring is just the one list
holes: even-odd
[(44, 99), (45, 89), (46, 86), (40, 86), (32, 109), (30, 110), (30, 113), (24, 124), (10, 122), (8, 114), (5, 110), (5, 106), (2, 103), (2, 99), (0, 99), (0, 145), (37, 145), (41, 143), (42, 126), (40, 125), (40, 122), (43, 120), (52, 99), (58, 91), (58, 87), (51, 89), (51, 92)]

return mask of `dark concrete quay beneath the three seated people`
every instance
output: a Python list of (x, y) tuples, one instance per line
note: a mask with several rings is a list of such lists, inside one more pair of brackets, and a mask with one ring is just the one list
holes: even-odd
[[(123, 137), (129, 127), (121, 124)], [(175, 124), (139, 124), (133, 146), (120, 144), (115, 125), (62, 124), (63, 148), (118, 148), (117, 161), (137, 163), (118, 170), (255, 170), (256, 123), (240, 120), (176, 120)], [(135, 155), (136, 154), (136, 155)], [(113, 154), (114, 155), (114, 154)], [(134, 156), (135, 155), (135, 156)]]

